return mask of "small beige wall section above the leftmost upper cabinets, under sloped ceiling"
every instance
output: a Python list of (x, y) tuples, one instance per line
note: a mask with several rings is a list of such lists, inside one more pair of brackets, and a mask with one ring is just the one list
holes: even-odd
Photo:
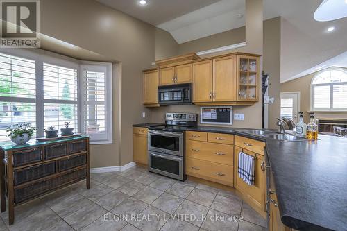
[(155, 28), (155, 60), (162, 60), (176, 55), (178, 55), (178, 43), (174, 40), (174, 37), (167, 31)]

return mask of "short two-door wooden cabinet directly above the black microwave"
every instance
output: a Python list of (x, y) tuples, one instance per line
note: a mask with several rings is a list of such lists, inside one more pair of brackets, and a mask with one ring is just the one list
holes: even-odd
[(159, 85), (192, 83), (192, 64), (160, 69)]

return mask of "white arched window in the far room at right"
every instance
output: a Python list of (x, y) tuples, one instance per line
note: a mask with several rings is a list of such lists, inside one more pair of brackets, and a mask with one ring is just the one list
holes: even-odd
[(311, 110), (347, 110), (347, 71), (328, 69), (319, 72), (312, 78)]

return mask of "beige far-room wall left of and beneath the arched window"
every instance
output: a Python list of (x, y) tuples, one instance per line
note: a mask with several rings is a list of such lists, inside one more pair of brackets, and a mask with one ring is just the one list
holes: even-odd
[[(281, 84), (281, 92), (300, 92), (300, 111), (304, 112), (305, 123), (310, 121), (308, 114), (310, 111), (310, 85), (315, 75), (316, 72)], [(316, 119), (347, 119), (347, 112), (315, 112), (314, 114)]]

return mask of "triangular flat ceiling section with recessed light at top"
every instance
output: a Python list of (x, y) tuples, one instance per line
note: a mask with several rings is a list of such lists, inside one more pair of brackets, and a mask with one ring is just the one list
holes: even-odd
[(139, 5), (139, 0), (96, 1), (157, 26), (219, 0), (148, 0), (146, 6)]

